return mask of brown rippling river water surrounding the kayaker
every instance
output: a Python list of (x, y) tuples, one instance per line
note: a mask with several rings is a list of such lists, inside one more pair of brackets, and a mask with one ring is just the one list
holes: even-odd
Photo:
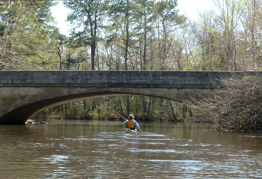
[(262, 178), (262, 133), (205, 124), (36, 121), (0, 125), (1, 179)]

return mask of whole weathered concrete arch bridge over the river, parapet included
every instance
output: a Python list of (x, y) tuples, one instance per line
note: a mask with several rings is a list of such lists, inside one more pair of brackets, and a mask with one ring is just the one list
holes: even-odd
[(222, 76), (231, 74), (182, 71), (0, 71), (0, 123), (24, 123), (46, 108), (93, 96), (143, 95), (183, 102), (189, 95), (208, 95), (219, 85)]

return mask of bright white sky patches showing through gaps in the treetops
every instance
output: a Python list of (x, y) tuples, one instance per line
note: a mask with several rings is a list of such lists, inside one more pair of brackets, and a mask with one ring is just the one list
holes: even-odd
[[(51, 11), (53, 16), (58, 22), (57, 27), (59, 27), (60, 32), (66, 36), (69, 36), (70, 23), (65, 22), (66, 15), (69, 13), (69, 10), (66, 9), (62, 1), (57, 1), (58, 5), (52, 7)], [(190, 19), (196, 19), (197, 11), (202, 11), (204, 9), (209, 9), (213, 6), (212, 0), (177, 0), (180, 14), (186, 14)]]

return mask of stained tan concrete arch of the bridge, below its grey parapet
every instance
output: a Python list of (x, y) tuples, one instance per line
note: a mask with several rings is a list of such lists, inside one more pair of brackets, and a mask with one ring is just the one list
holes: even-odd
[[(48, 108), (90, 97), (137, 95), (183, 102), (183, 100), (186, 99), (186, 96), (189, 96), (190, 94), (203, 94), (203, 91), (210, 92), (206, 89), (189, 90), (186, 88), (18, 87), (16, 90), (13, 87), (9, 88), (10, 89), (6, 90), (12, 90), (18, 99), (22, 99), (23, 104), (21, 104), (21, 102), (12, 103), (12, 105), (9, 104), (9, 111), (1, 116), (0, 123), (24, 123), (27, 119)], [(23, 94), (21, 94), (21, 91), (23, 91)], [(12, 101), (15, 101), (16, 97), (12, 97)]]

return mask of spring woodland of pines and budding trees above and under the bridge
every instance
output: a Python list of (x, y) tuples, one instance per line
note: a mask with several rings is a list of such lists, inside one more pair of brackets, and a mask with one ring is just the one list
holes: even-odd
[[(179, 15), (176, 0), (63, 1), (70, 36), (50, 8), (55, 1), (0, 1), (0, 70), (260, 71), (262, 2), (213, 0), (197, 20)], [(138, 96), (71, 102), (40, 117), (127, 116), (183, 120), (185, 104)]]

